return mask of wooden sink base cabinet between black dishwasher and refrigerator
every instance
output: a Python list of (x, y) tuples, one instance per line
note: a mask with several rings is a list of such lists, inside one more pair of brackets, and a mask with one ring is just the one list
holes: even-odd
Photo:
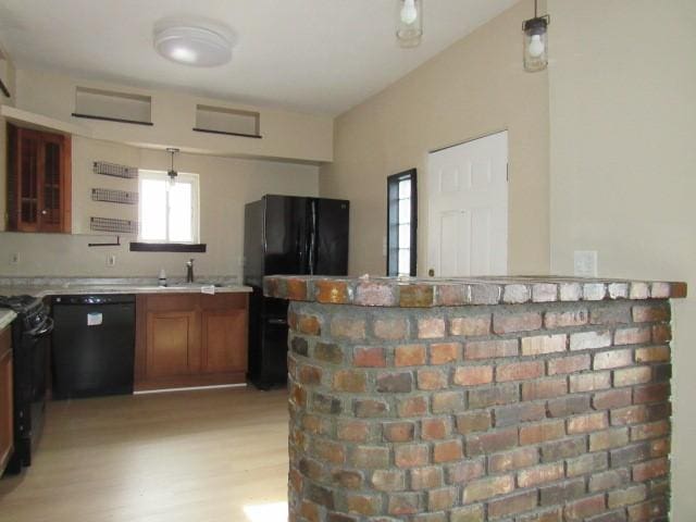
[(136, 391), (246, 382), (247, 294), (142, 295), (136, 310)]

